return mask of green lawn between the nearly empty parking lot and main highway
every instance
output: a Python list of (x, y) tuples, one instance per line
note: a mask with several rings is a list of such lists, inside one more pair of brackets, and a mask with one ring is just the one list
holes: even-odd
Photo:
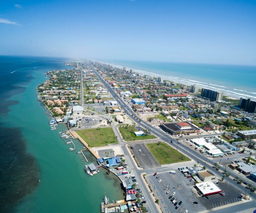
[(190, 160), (185, 155), (173, 149), (164, 142), (162, 142), (160, 145), (159, 143), (148, 143), (146, 145), (160, 164), (177, 163)]

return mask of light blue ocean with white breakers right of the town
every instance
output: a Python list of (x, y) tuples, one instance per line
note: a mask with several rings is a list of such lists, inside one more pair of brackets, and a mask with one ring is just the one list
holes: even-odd
[(256, 99), (256, 66), (192, 64), (131, 60), (97, 61), (134, 69), (137, 72), (186, 85), (198, 84), (235, 98)]

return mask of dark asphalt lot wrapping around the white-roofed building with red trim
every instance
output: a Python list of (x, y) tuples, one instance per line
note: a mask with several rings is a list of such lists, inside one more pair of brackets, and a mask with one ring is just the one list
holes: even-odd
[(207, 209), (216, 208), (219, 206), (224, 206), (227, 204), (241, 201), (240, 195), (244, 192), (241, 192), (234, 187), (230, 187), (229, 184), (225, 182), (219, 182), (217, 186), (222, 190), (223, 194), (225, 194), (224, 197), (219, 194), (209, 195), (209, 200), (205, 197), (199, 197), (199, 200), (204, 204)]

